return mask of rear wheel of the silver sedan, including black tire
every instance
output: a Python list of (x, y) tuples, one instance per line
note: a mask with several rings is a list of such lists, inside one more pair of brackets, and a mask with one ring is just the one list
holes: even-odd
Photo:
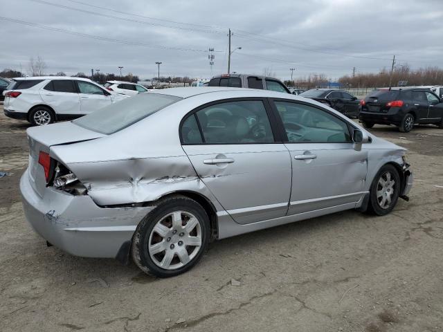
[[(178, 223), (174, 225), (174, 221)], [(132, 259), (148, 275), (173, 277), (197, 264), (209, 238), (210, 222), (204, 208), (186, 196), (171, 196), (159, 201), (138, 224), (132, 238)], [(195, 244), (186, 246), (186, 242)]]

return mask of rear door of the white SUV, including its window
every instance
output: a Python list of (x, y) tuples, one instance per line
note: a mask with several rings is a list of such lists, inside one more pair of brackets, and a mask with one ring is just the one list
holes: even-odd
[(73, 80), (51, 80), (40, 89), (40, 95), (57, 114), (80, 114), (80, 96)]

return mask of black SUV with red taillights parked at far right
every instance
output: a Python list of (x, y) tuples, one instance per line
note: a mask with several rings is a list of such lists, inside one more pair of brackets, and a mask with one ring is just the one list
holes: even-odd
[(395, 124), (407, 133), (414, 124), (437, 124), (443, 128), (443, 102), (428, 89), (380, 89), (360, 101), (363, 127)]

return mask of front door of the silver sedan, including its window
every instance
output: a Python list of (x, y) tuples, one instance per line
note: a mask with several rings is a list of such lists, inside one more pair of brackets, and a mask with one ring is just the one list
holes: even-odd
[(353, 149), (347, 122), (300, 102), (275, 100), (292, 161), (288, 214), (347, 205), (363, 194), (368, 152)]

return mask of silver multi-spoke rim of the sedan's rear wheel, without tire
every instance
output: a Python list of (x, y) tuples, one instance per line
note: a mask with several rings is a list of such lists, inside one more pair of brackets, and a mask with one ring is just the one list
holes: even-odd
[(186, 211), (174, 211), (161, 218), (150, 234), (148, 252), (156, 266), (174, 270), (188, 264), (201, 247), (201, 224)]

